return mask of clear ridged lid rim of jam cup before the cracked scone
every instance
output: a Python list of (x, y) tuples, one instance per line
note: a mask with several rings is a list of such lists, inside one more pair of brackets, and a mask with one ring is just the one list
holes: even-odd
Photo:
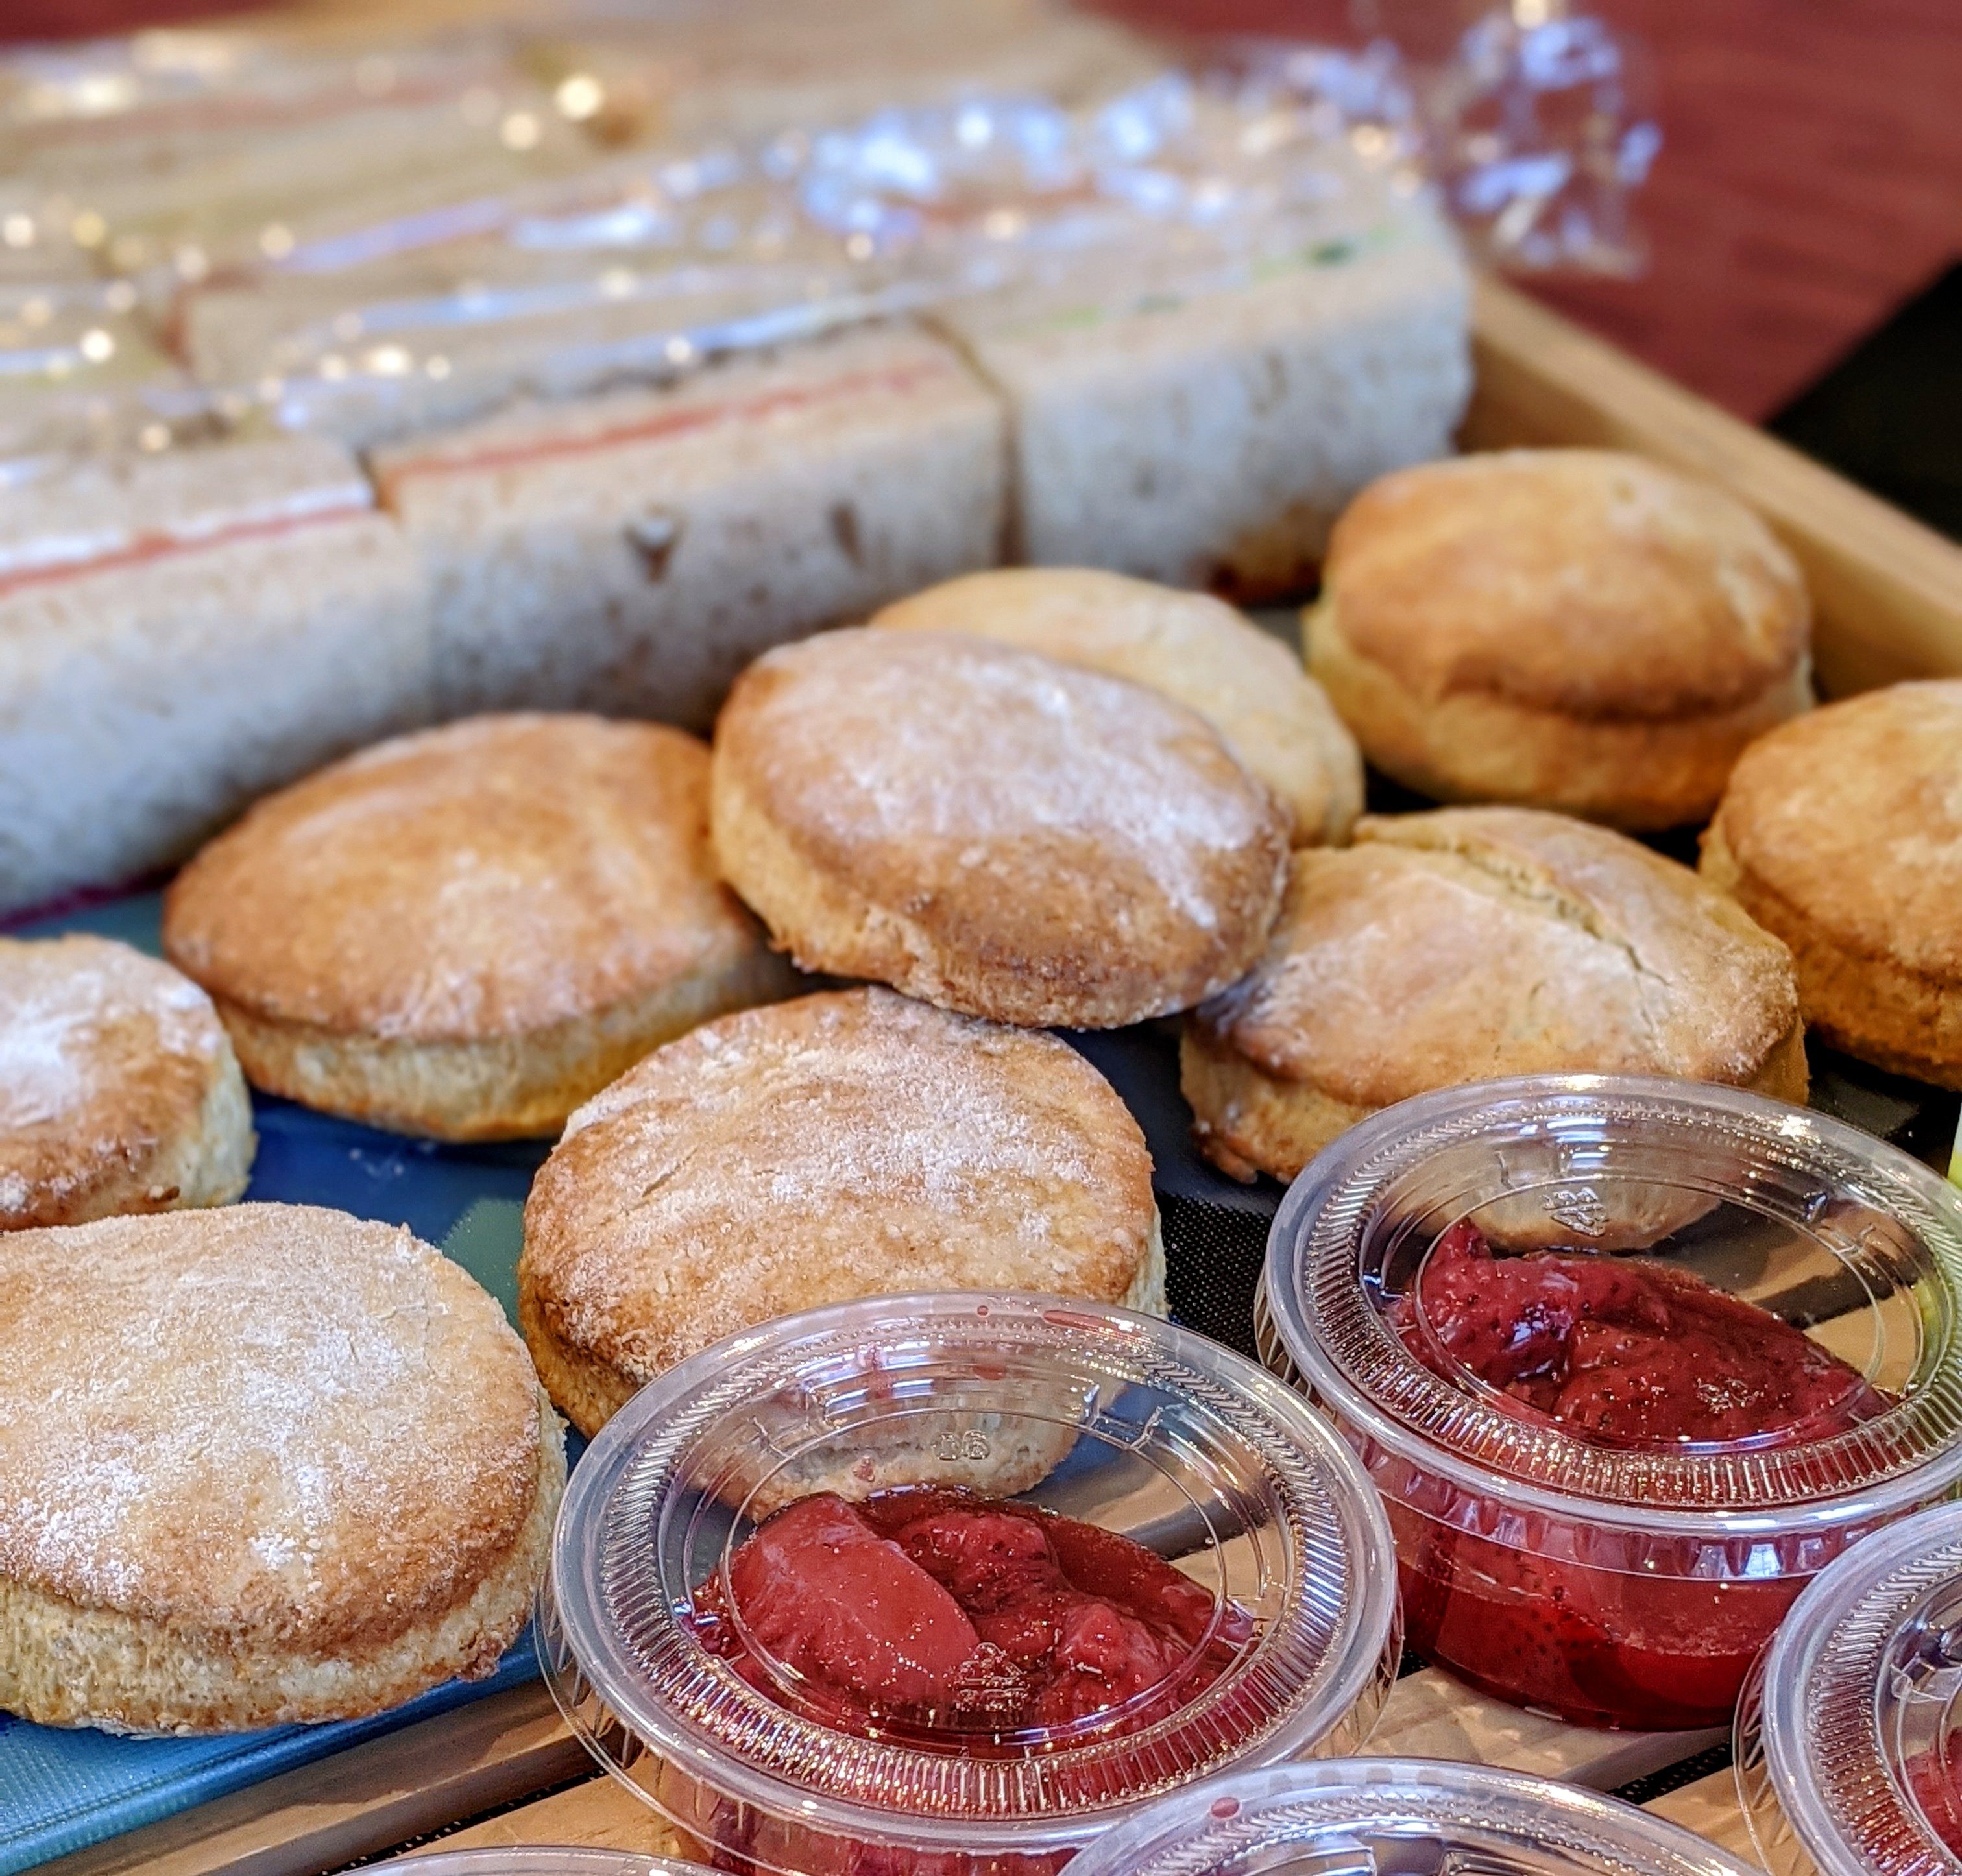
[[(1711, 1448), (1683, 1456), (1654, 1450), (1626, 1454), (1577, 1434), (1532, 1427), (1534, 1446), (1550, 1454), (1550, 1460), (1534, 1470), (1519, 1470), (1483, 1458), (1481, 1450), (1505, 1452), (1509, 1444), (1519, 1442), (1519, 1429), (1528, 1423), (1470, 1399), (1426, 1370), (1389, 1332), (1364, 1295), (1356, 1272), (1360, 1236), (1356, 1225), (1368, 1217), (1369, 1195), (1413, 1172), (1428, 1152), (1462, 1148), (1485, 1130), (1497, 1140), (1501, 1124), (1517, 1126), (1528, 1117), (1534, 1122), (1575, 1122), (1589, 1111), (1617, 1105), (1630, 1115), (1672, 1124), (1691, 1124), (1691, 1119), (1723, 1120), (1764, 1144), (1781, 1142), (1791, 1156), (1809, 1152), (1815, 1162), (1858, 1166), (1872, 1191), (1889, 1201), (1895, 1217), (1907, 1209), (1933, 1221), (1935, 1236), (1940, 1238), (1938, 1250), (1931, 1246), (1927, 1230), (1909, 1228), (1944, 1281), (1954, 1321), (1948, 1344), (1940, 1350), (1936, 1374), (1940, 1399), (1933, 1405), (1923, 1401), (1919, 1411), (1925, 1417), (1946, 1411), (1956, 1425), (1946, 1429), (1942, 1438), (1929, 1440), (1927, 1450), (1891, 1468), (1876, 1468), (1870, 1478), (1850, 1478), (1836, 1487), (1821, 1485), (1760, 1503), (1723, 1497), (1711, 1501), (1713, 1493), (1707, 1489), (1687, 1501), (1668, 1497), (1658, 1501), (1654, 1495), (1642, 1497), (1632, 1491), (1609, 1495), (1579, 1482), (1544, 1476), (1546, 1470), (1562, 1468), (1574, 1474), (1613, 1476), (1617, 1462), (1630, 1474), (1636, 1466), (1650, 1476), (1658, 1472), (1668, 1476), (1672, 1470), (1687, 1474), (1693, 1466), (1711, 1464)], [(1831, 1179), (1833, 1170), (1821, 1168), (1821, 1177)], [(1844, 1179), (1836, 1183), (1844, 1189)], [(1495, 1197), (1505, 1193), (1491, 1193), (1477, 1205)], [(1342, 1207), (1346, 1217), (1330, 1226), (1328, 1213), (1336, 1207)], [(1311, 1244), (1317, 1226), (1322, 1226), (1320, 1240)], [(1320, 1256), (1318, 1270), (1311, 1268), (1317, 1256)], [(1344, 1256), (1346, 1277), (1338, 1262)], [(1305, 1291), (1315, 1277), (1318, 1285), (1311, 1301)], [(1744, 1089), (1660, 1075), (1515, 1075), (1438, 1089), (1381, 1109), (1311, 1162), (1283, 1195), (1267, 1236), (1262, 1291), (1273, 1330), (1301, 1385), (1352, 1429), (1352, 1436), (1362, 1436), (1397, 1460), (1517, 1511), (1579, 1519), (1593, 1527), (1658, 1538), (1705, 1542), (1776, 1538), (1893, 1517), (1962, 1478), (1962, 1191), (1899, 1148), (1842, 1120)], [(1318, 1332), (1317, 1311), (1330, 1297), (1342, 1311), (1338, 1329), (1368, 1342), (1373, 1372), (1354, 1372)], [(1450, 1436), (1413, 1425), (1397, 1403), (1381, 1399), (1375, 1387), (1383, 1385), (1385, 1378), (1403, 1389), (1407, 1399), (1432, 1407)], [(1854, 1433), (1838, 1434), (1836, 1440), (1778, 1448), (1774, 1458), (1780, 1466), (1795, 1470), (1807, 1454), (1860, 1440), (1870, 1429), (1893, 1429), (1907, 1405), (1897, 1405)], [(1473, 1446), (1481, 1450), (1468, 1450)], [(1715, 1450), (1715, 1458), (1725, 1458), (1723, 1448)], [(1764, 1470), (1752, 1466), (1750, 1476), (1762, 1480)]]

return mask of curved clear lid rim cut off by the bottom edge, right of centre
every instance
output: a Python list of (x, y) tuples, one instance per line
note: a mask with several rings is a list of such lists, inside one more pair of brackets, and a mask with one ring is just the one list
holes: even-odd
[(1264, 1817), (1330, 1831), (1383, 1819), (1446, 1845), (1454, 1825), (1466, 1835), (1509, 1825), (1625, 1876), (1754, 1876), (1707, 1839), (1603, 1792), (1438, 1758), (1322, 1758), (1209, 1778), (1099, 1839), (1081, 1876), (1214, 1876), (1262, 1849)]

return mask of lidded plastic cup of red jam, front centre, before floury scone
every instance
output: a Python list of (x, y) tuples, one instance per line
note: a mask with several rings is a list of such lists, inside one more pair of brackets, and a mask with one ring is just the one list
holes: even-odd
[(540, 1656), (740, 1876), (1054, 1876), (1216, 1770), (1354, 1750), (1395, 1550), (1344, 1440), (1169, 1323), (873, 1297), (704, 1350), (573, 1478)]

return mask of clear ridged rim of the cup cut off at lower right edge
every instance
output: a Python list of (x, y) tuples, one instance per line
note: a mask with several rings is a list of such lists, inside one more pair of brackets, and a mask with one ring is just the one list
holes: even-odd
[[(1776, 1803), (1821, 1876), (1919, 1876), (1950, 1856), (1901, 1792), (1876, 1690), (1901, 1627), (1958, 1580), (1962, 1503), (1946, 1503), (1854, 1544), (1805, 1586), (1738, 1701), (1732, 1762), (1760, 1852)], [(1854, 1807), (1885, 1845), (1854, 1835)]]

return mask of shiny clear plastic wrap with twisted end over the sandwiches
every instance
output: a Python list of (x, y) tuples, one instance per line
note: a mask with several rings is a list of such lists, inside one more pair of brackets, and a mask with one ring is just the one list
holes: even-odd
[(1368, 269), (1442, 247), (1432, 202), (1501, 263), (1632, 265), (1634, 49), (1558, 0), (1446, 10), (1436, 43), (1381, 12), (1346, 49), (667, 0), (26, 51), (0, 283), (114, 277), (226, 424), (365, 445), (936, 306), (1063, 328)]

